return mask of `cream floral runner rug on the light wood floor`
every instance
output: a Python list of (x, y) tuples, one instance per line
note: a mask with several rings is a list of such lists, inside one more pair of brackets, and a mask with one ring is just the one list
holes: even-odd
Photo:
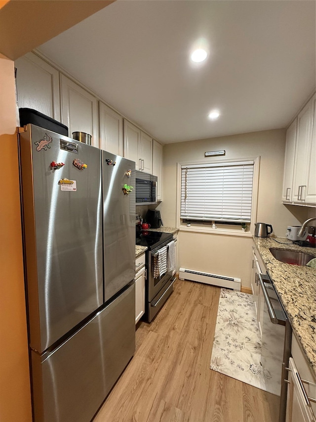
[(221, 289), (210, 369), (266, 390), (252, 295)]

